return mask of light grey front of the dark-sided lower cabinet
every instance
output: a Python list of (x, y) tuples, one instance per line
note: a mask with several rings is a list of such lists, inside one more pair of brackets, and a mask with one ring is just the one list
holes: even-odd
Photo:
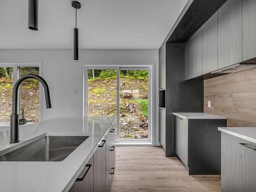
[(175, 153), (188, 165), (188, 121), (187, 119), (175, 116)]

